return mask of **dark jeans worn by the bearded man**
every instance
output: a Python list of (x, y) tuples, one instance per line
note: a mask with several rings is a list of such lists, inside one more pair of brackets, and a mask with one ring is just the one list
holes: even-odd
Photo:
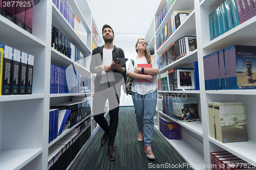
[[(108, 145), (114, 145), (116, 131), (118, 127), (118, 111), (119, 111), (119, 98), (120, 98), (120, 89), (117, 91), (116, 86), (109, 88), (104, 88), (105, 85), (99, 85), (97, 90), (94, 93), (93, 98), (93, 117), (97, 124), (103, 129), (105, 133), (109, 134)], [(102, 90), (104, 89), (104, 90)], [(118, 99), (117, 99), (118, 96)], [(104, 117), (104, 106), (106, 99), (109, 99), (109, 115), (110, 115), (110, 125)]]

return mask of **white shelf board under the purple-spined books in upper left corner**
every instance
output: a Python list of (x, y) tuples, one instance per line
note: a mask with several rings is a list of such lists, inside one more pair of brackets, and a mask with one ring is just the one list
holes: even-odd
[(7, 32), (0, 32), (1, 43), (8, 46), (16, 47), (18, 50), (22, 50), (22, 47), (25, 46), (46, 46), (46, 43), (44, 41), (35, 37), (33, 34), (28, 33), (24, 29), (18, 27), (15, 23), (11, 22), (2, 15), (0, 15), (0, 30), (8, 30)]

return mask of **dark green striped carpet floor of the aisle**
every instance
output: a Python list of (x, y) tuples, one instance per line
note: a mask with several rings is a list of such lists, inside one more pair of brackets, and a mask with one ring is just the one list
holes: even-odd
[(120, 107), (119, 125), (114, 144), (117, 151), (116, 160), (109, 160), (107, 145), (100, 147), (102, 135), (103, 130), (100, 128), (75, 169), (183, 169), (169, 168), (172, 164), (182, 164), (184, 160), (178, 159), (155, 132), (153, 134), (152, 151), (156, 159), (151, 160), (146, 157), (143, 151), (144, 142), (137, 140), (138, 130), (134, 107)]

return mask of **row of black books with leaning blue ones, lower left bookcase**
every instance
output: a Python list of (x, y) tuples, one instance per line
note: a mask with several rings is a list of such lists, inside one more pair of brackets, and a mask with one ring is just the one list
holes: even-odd
[[(58, 109), (59, 114), (62, 113), (61, 110), (65, 110), (65, 115), (67, 114), (65, 118), (67, 120), (66, 120), (65, 124), (63, 123), (63, 125), (65, 127), (61, 127), (61, 128), (70, 129), (73, 126), (75, 126), (76, 124), (80, 123), (81, 120), (83, 120), (84, 118), (86, 118), (88, 115), (91, 114), (90, 106), (91, 106), (91, 97), (87, 97), (87, 98), (84, 98), (84, 101), (82, 101), (82, 102), (74, 101), (74, 102), (58, 104), (58, 105), (51, 106), (51, 109)], [(69, 115), (68, 115), (68, 111), (66, 111), (66, 110), (70, 110)], [(57, 115), (57, 114), (55, 114), (55, 115)], [(55, 116), (55, 117), (58, 117), (58, 116)], [(60, 118), (62, 118), (62, 115), (60, 116)], [(58, 120), (58, 118), (57, 118), (57, 120)], [(57, 122), (57, 120), (55, 122)], [(63, 122), (63, 120), (62, 120), (62, 122)], [(57, 135), (60, 135), (62, 130), (61, 131), (58, 130)], [(53, 134), (54, 134), (53, 136), (56, 136), (56, 131), (54, 131)]]

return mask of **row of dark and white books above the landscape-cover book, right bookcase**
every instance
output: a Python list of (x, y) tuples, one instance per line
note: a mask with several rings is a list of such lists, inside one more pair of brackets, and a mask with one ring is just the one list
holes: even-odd
[(189, 55), (197, 49), (197, 38), (191, 36), (184, 36), (176, 40), (170, 45), (158, 58), (157, 63), (159, 69), (166, 65)]

